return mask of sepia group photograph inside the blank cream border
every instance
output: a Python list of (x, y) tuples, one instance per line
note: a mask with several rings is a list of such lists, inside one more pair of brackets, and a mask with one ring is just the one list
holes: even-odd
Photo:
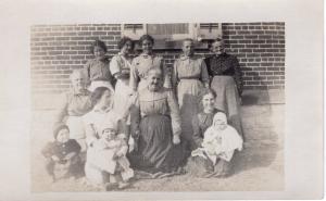
[(286, 27), (30, 25), (32, 192), (285, 190)]

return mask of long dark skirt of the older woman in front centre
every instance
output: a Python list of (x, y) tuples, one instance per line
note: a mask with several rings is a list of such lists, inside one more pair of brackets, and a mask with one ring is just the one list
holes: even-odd
[(176, 171), (184, 161), (181, 145), (172, 142), (171, 118), (165, 115), (146, 116), (140, 122), (138, 150), (129, 155), (131, 167), (148, 173)]

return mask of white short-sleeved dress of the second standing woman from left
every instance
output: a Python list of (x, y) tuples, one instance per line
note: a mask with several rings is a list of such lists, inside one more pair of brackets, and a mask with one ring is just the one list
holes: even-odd
[[(113, 110), (118, 114), (128, 113), (131, 101), (133, 89), (129, 86), (129, 76), (131, 68), (131, 58), (125, 58), (122, 53), (113, 56), (110, 62), (110, 71), (112, 75), (124, 74), (124, 78), (118, 78), (115, 85)], [(126, 75), (127, 74), (127, 75)], [(130, 120), (128, 117), (127, 124)]]

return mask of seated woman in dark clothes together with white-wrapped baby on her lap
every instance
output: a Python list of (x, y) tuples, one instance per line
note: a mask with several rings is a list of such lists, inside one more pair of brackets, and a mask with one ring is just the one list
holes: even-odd
[(214, 108), (215, 98), (214, 91), (203, 91), (203, 112), (192, 120), (198, 149), (191, 152), (186, 171), (198, 177), (229, 175), (234, 151), (242, 149), (242, 138), (227, 125), (225, 113)]

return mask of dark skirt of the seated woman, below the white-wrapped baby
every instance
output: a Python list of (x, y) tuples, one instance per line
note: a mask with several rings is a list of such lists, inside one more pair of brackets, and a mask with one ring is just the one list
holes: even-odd
[(218, 161), (214, 165), (209, 159), (201, 156), (191, 156), (185, 167), (187, 174), (195, 177), (227, 177), (231, 174), (231, 161), (227, 162), (223, 159), (217, 159)]

